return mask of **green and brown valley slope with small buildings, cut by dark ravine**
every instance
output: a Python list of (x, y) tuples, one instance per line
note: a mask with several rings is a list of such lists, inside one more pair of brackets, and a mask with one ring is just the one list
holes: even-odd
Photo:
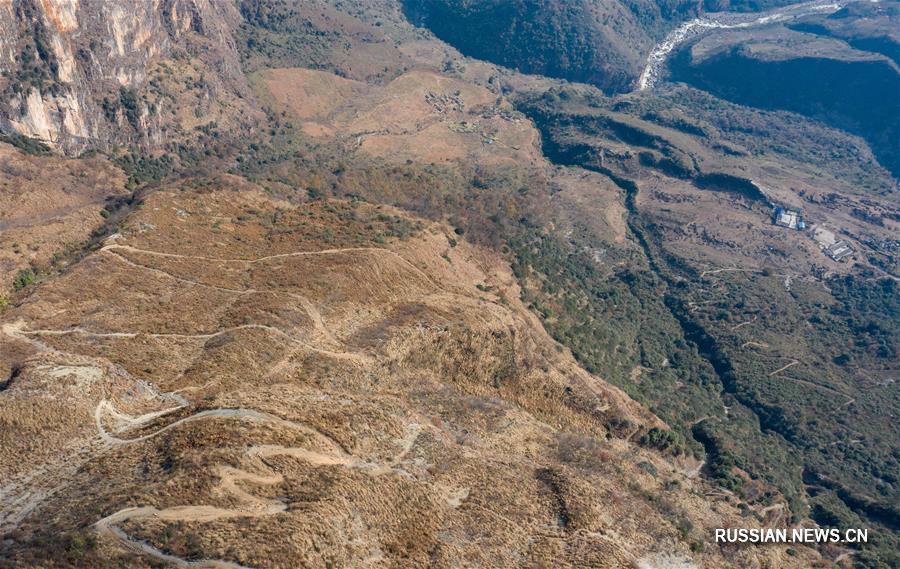
[[(582, 97), (572, 90), (523, 109), (541, 126), (549, 157), (622, 187), (648, 263), (612, 275), (576, 265), (561, 275), (564, 300), (542, 306), (551, 333), (586, 367), (689, 429), (723, 485), (753, 502), (759, 491), (745, 484), (767, 480), (794, 516), (877, 527), (857, 560), (895, 565), (900, 244), (890, 175), (857, 153), (859, 142), (787, 113), (760, 115), (684, 87), (652, 98)], [(716, 148), (729, 157), (707, 154)], [(841, 157), (840, 172), (825, 157)], [(772, 224), (772, 203), (802, 211), (813, 228)], [(822, 254), (833, 230), (865, 251), (852, 265)], [(603, 294), (583, 299), (572, 292), (579, 281)], [(652, 318), (651, 329), (674, 318), (711, 368), (683, 374), (691, 360), (651, 334), (635, 335), (630, 360), (585, 341), (629, 338), (623, 330), (633, 327), (604, 325), (610, 297), (629, 321)], [(628, 361), (640, 371), (619, 367)]]

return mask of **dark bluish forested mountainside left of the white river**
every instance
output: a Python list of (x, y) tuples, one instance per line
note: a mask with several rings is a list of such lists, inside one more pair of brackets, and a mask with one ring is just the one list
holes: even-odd
[(628, 90), (670, 22), (690, 2), (406, 0), (407, 15), (464, 54), (525, 73)]

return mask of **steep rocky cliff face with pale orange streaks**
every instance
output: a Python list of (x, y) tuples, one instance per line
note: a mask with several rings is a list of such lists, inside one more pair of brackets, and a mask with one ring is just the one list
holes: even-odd
[(0, 0), (0, 131), (68, 153), (181, 138), (248, 94), (239, 18), (226, 0)]

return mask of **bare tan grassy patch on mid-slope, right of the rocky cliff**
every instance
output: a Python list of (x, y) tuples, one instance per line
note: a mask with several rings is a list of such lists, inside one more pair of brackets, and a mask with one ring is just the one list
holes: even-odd
[(533, 125), (484, 86), (427, 69), (385, 85), (311, 69), (270, 69), (261, 97), (314, 139), (393, 162), (521, 165), (542, 162)]

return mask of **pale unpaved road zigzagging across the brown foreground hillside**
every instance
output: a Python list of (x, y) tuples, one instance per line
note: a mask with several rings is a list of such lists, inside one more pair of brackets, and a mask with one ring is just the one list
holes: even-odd
[[(386, 255), (391, 257), (392, 259), (401, 260), (402, 264), (411, 269), (417, 276), (434, 285), (434, 282), (430, 279), (430, 277), (425, 275), (425, 273), (422, 272), (421, 269), (410, 263), (407, 259), (403, 258), (393, 251), (374, 247), (293, 252), (281, 255), (270, 255), (255, 259), (217, 259), (212, 257), (178, 255), (138, 249), (115, 243), (106, 245), (100, 251), (100, 253), (111, 254), (115, 258), (122, 260), (125, 263), (136, 268), (160, 272), (167, 277), (171, 277), (177, 280), (178, 282), (183, 282), (184, 284), (191, 286), (207, 286), (215, 288), (217, 290), (237, 293), (240, 295), (268, 293), (290, 295), (291, 297), (295, 298), (298, 303), (309, 313), (310, 318), (314, 322), (316, 331), (335, 343), (337, 343), (337, 340), (334, 339), (331, 333), (327, 330), (323, 318), (316, 308), (315, 304), (306, 297), (285, 291), (230, 289), (224, 287), (215, 287), (198, 281), (193, 281), (180, 276), (172, 275), (166, 271), (157, 269), (156, 267), (144, 266), (138, 263), (134, 263), (130, 259), (127, 259), (124, 256), (120, 255), (119, 251), (127, 251), (134, 254), (143, 254), (153, 257), (190, 259), (208, 263), (238, 263), (245, 265), (252, 265), (275, 259), (300, 256), (344, 255), (353, 253), (376, 256)], [(438, 287), (437, 290), (441, 289)], [(75, 354), (70, 354), (58, 350), (42, 342), (40, 338), (80, 335), (95, 338), (133, 339), (140, 335), (146, 335), (151, 338), (159, 339), (176, 338), (206, 341), (222, 336), (224, 334), (251, 329), (262, 330), (283, 336), (285, 338), (288, 338), (291, 342), (295, 343), (300, 349), (323, 353), (331, 357), (351, 359), (358, 362), (368, 362), (371, 359), (368, 355), (365, 354), (359, 354), (355, 352), (338, 352), (317, 348), (307, 342), (302, 341), (299, 338), (294, 337), (284, 330), (273, 326), (260, 324), (245, 324), (196, 334), (178, 334), (135, 331), (94, 331), (85, 329), (80, 326), (63, 330), (28, 329), (26, 327), (26, 323), (22, 320), (19, 320), (13, 323), (4, 324), (2, 330), (0, 331), (2, 331), (4, 335), (10, 338), (28, 342), (29, 344), (34, 346), (38, 350), (38, 352), (67, 356), (72, 359), (72, 361), (80, 361), (83, 358), (80, 358)], [(227, 465), (218, 465), (214, 467), (215, 474), (220, 480), (218, 485), (218, 494), (228, 495), (236, 498), (240, 503), (240, 506), (238, 507), (220, 508), (206, 504), (188, 504), (163, 509), (150, 506), (129, 507), (119, 510), (118, 512), (115, 512), (99, 520), (94, 525), (95, 529), (99, 533), (112, 537), (125, 547), (135, 552), (149, 555), (150, 557), (153, 557), (160, 562), (169, 565), (178, 567), (212, 567), (220, 569), (240, 568), (243, 566), (232, 562), (219, 561), (214, 559), (188, 561), (177, 556), (169, 555), (149, 543), (132, 538), (125, 531), (123, 531), (119, 527), (119, 525), (128, 520), (136, 520), (141, 518), (155, 518), (169, 521), (208, 522), (225, 518), (270, 516), (280, 512), (284, 512), (288, 509), (287, 504), (279, 500), (257, 497), (252, 493), (243, 490), (239, 486), (239, 483), (256, 485), (275, 485), (282, 483), (284, 480), (283, 475), (273, 470), (270, 466), (268, 466), (266, 462), (267, 458), (275, 456), (289, 456), (318, 467), (337, 466), (357, 469), (371, 476), (383, 476), (392, 473), (408, 475), (406, 471), (401, 468), (401, 465), (418, 440), (418, 436), (421, 431), (421, 427), (418, 423), (409, 424), (407, 426), (407, 436), (398, 440), (399, 450), (396, 455), (389, 460), (381, 462), (370, 462), (353, 457), (347, 449), (340, 445), (340, 443), (317, 429), (294, 421), (283, 419), (270, 413), (265, 413), (248, 408), (207, 409), (170, 422), (150, 433), (139, 434), (130, 438), (126, 438), (125, 435), (127, 433), (149, 427), (154, 422), (162, 420), (165, 417), (179, 411), (185, 410), (191, 405), (190, 401), (175, 392), (161, 393), (159, 394), (159, 396), (163, 400), (171, 400), (175, 403), (175, 405), (148, 412), (139, 416), (128, 415), (127, 413), (120, 411), (110, 400), (100, 400), (100, 402), (97, 403), (93, 413), (97, 435), (87, 441), (82, 441), (81, 443), (79, 443), (78, 448), (74, 449), (71, 453), (66, 453), (65, 460), (63, 460), (62, 463), (67, 464), (69, 468), (64, 468), (62, 470), (60, 470), (60, 468), (38, 469), (37, 471), (30, 473), (30, 475), (22, 478), (21, 480), (10, 481), (8, 484), (0, 488), (0, 496), (3, 497), (4, 502), (3, 508), (0, 509), (0, 524), (2, 524), (4, 527), (7, 527), (7, 529), (14, 529), (26, 515), (28, 515), (31, 511), (38, 507), (49, 496), (53, 495), (60, 488), (67, 484), (65, 480), (63, 480), (62, 482), (59, 481), (61, 476), (65, 478), (67, 477), (67, 475), (73, 474), (87, 461), (109, 451), (116, 446), (143, 443), (168, 431), (178, 429), (184, 425), (208, 420), (249, 421), (254, 423), (265, 423), (276, 427), (299, 431), (309, 437), (310, 443), (315, 448), (319, 448), (322, 450), (312, 450), (302, 447), (285, 447), (281, 445), (271, 444), (253, 445), (245, 450), (244, 456), (246, 461), (252, 465), (253, 470), (256, 470), (257, 472), (250, 472)], [(77, 458), (77, 460), (75, 460), (75, 458)]]

